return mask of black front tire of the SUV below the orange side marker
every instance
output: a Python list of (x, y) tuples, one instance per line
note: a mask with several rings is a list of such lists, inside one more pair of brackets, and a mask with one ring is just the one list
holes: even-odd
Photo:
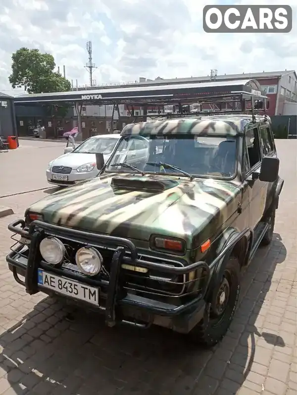
[[(220, 295), (223, 294), (222, 285), (227, 285), (227, 302), (222, 306)], [(215, 314), (213, 303), (207, 303), (205, 306), (204, 316), (198, 325), (190, 332), (190, 336), (193, 340), (198, 342), (202, 346), (212, 347), (218, 343), (225, 336), (232, 322), (234, 313), (236, 311), (237, 302), (240, 293), (240, 264), (237, 258), (231, 257), (227, 262), (224, 273), (221, 278), (221, 283), (215, 291), (216, 295), (213, 295), (213, 301), (216, 301), (216, 305), (219, 309), (223, 308), (220, 315)], [(226, 296), (226, 293), (224, 293)], [(220, 303), (217, 302), (220, 299)]]

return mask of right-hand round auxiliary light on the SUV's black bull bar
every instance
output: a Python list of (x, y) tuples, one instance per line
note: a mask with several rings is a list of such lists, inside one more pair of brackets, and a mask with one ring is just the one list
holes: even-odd
[(86, 276), (96, 276), (101, 270), (102, 255), (92, 247), (80, 248), (75, 254), (77, 266)]

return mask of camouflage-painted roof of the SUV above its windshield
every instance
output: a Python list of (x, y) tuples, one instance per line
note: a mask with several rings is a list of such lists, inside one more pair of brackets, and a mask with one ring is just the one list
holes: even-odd
[[(263, 121), (264, 116), (256, 116), (256, 120)], [(243, 114), (193, 116), (129, 123), (123, 128), (121, 135), (207, 134), (208, 136), (237, 136), (242, 135), (245, 126), (251, 122), (252, 116)]]

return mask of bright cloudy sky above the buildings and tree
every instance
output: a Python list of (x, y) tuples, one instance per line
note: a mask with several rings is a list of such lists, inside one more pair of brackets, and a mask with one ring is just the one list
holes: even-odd
[(297, 68), (297, 0), (285, 2), (294, 9), (291, 33), (204, 33), (203, 6), (224, 3), (281, 2), (0, 0), (0, 91), (12, 93), (11, 54), (21, 47), (51, 53), (69, 80), (88, 83), (88, 40), (97, 84), (201, 76), (212, 68), (218, 74)]

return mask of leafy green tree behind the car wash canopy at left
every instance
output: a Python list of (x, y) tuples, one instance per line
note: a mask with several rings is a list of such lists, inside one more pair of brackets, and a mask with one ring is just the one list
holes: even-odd
[(9, 82), (12, 88), (24, 88), (28, 93), (66, 92), (70, 82), (53, 71), (52, 55), (42, 54), (38, 49), (20, 48), (11, 56), (12, 72)]

